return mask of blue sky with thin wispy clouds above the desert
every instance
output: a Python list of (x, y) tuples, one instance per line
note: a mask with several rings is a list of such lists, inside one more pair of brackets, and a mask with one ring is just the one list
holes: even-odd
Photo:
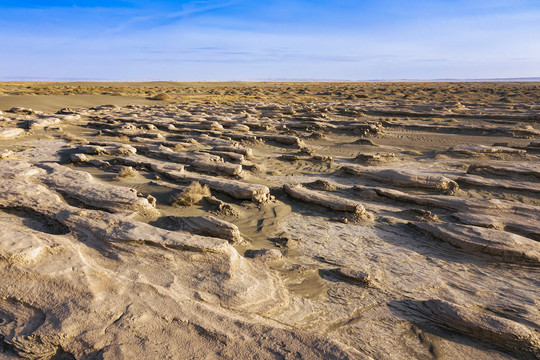
[(0, 0), (0, 80), (540, 77), (540, 0)]

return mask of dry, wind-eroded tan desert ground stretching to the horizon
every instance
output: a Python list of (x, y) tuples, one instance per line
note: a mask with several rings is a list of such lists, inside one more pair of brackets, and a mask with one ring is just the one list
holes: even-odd
[(540, 358), (539, 84), (1, 89), (2, 359)]

